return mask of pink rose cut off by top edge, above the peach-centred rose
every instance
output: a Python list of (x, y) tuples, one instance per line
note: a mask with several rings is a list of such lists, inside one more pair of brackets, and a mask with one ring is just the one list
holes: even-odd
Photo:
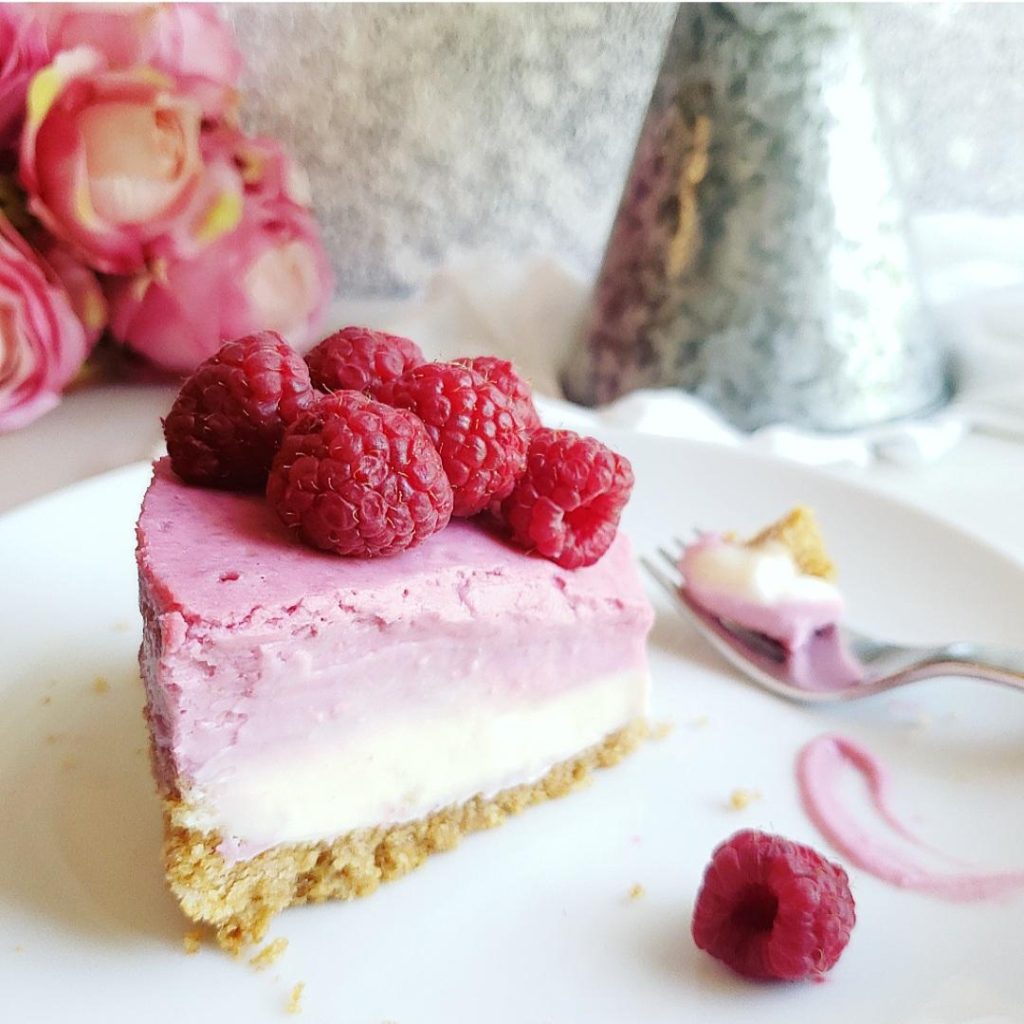
[(53, 3), (31, 11), (45, 29), (51, 53), (90, 46), (115, 70), (145, 66), (228, 89), (242, 74), (231, 29), (210, 4)]

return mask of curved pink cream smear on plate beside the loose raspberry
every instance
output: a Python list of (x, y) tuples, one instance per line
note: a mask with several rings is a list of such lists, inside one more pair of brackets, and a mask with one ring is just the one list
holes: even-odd
[(869, 751), (843, 736), (817, 736), (798, 755), (801, 801), (821, 835), (851, 864), (900, 889), (913, 889), (947, 900), (994, 899), (1024, 887), (1024, 871), (933, 871), (864, 828), (836, 796), (841, 774), (850, 768), (867, 783), (871, 805), (881, 821), (912, 845), (930, 848), (892, 810), (889, 772)]

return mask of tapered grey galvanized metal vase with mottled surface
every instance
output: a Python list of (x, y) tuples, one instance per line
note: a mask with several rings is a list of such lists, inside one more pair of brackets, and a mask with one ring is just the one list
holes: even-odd
[(744, 429), (948, 396), (855, 9), (681, 5), (563, 385), (675, 385)]

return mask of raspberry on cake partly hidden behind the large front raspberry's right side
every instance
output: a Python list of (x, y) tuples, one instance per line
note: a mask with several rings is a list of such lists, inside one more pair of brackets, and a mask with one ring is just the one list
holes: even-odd
[(479, 374), (427, 362), (376, 395), (423, 420), (452, 482), (453, 515), (475, 515), (512, 489), (526, 460), (526, 432), (508, 398)]

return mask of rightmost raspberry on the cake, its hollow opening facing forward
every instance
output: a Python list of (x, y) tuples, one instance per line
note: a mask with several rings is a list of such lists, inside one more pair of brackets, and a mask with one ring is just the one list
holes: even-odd
[(593, 437), (542, 427), (501, 515), (522, 547), (574, 569), (611, 546), (632, 489), (633, 468), (624, 456)]

